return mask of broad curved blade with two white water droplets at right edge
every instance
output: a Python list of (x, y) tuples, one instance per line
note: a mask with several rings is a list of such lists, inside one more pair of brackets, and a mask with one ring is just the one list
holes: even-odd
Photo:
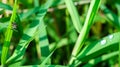
[(78, 63), (78, 60), (81, 63), (86, 62), (100, 54), (108, 52), (109, 50), (118, 50), (119, 40), (120, 32), (106, 36), (103, 39), (86, 46), (76, 57), (75, 62)]

